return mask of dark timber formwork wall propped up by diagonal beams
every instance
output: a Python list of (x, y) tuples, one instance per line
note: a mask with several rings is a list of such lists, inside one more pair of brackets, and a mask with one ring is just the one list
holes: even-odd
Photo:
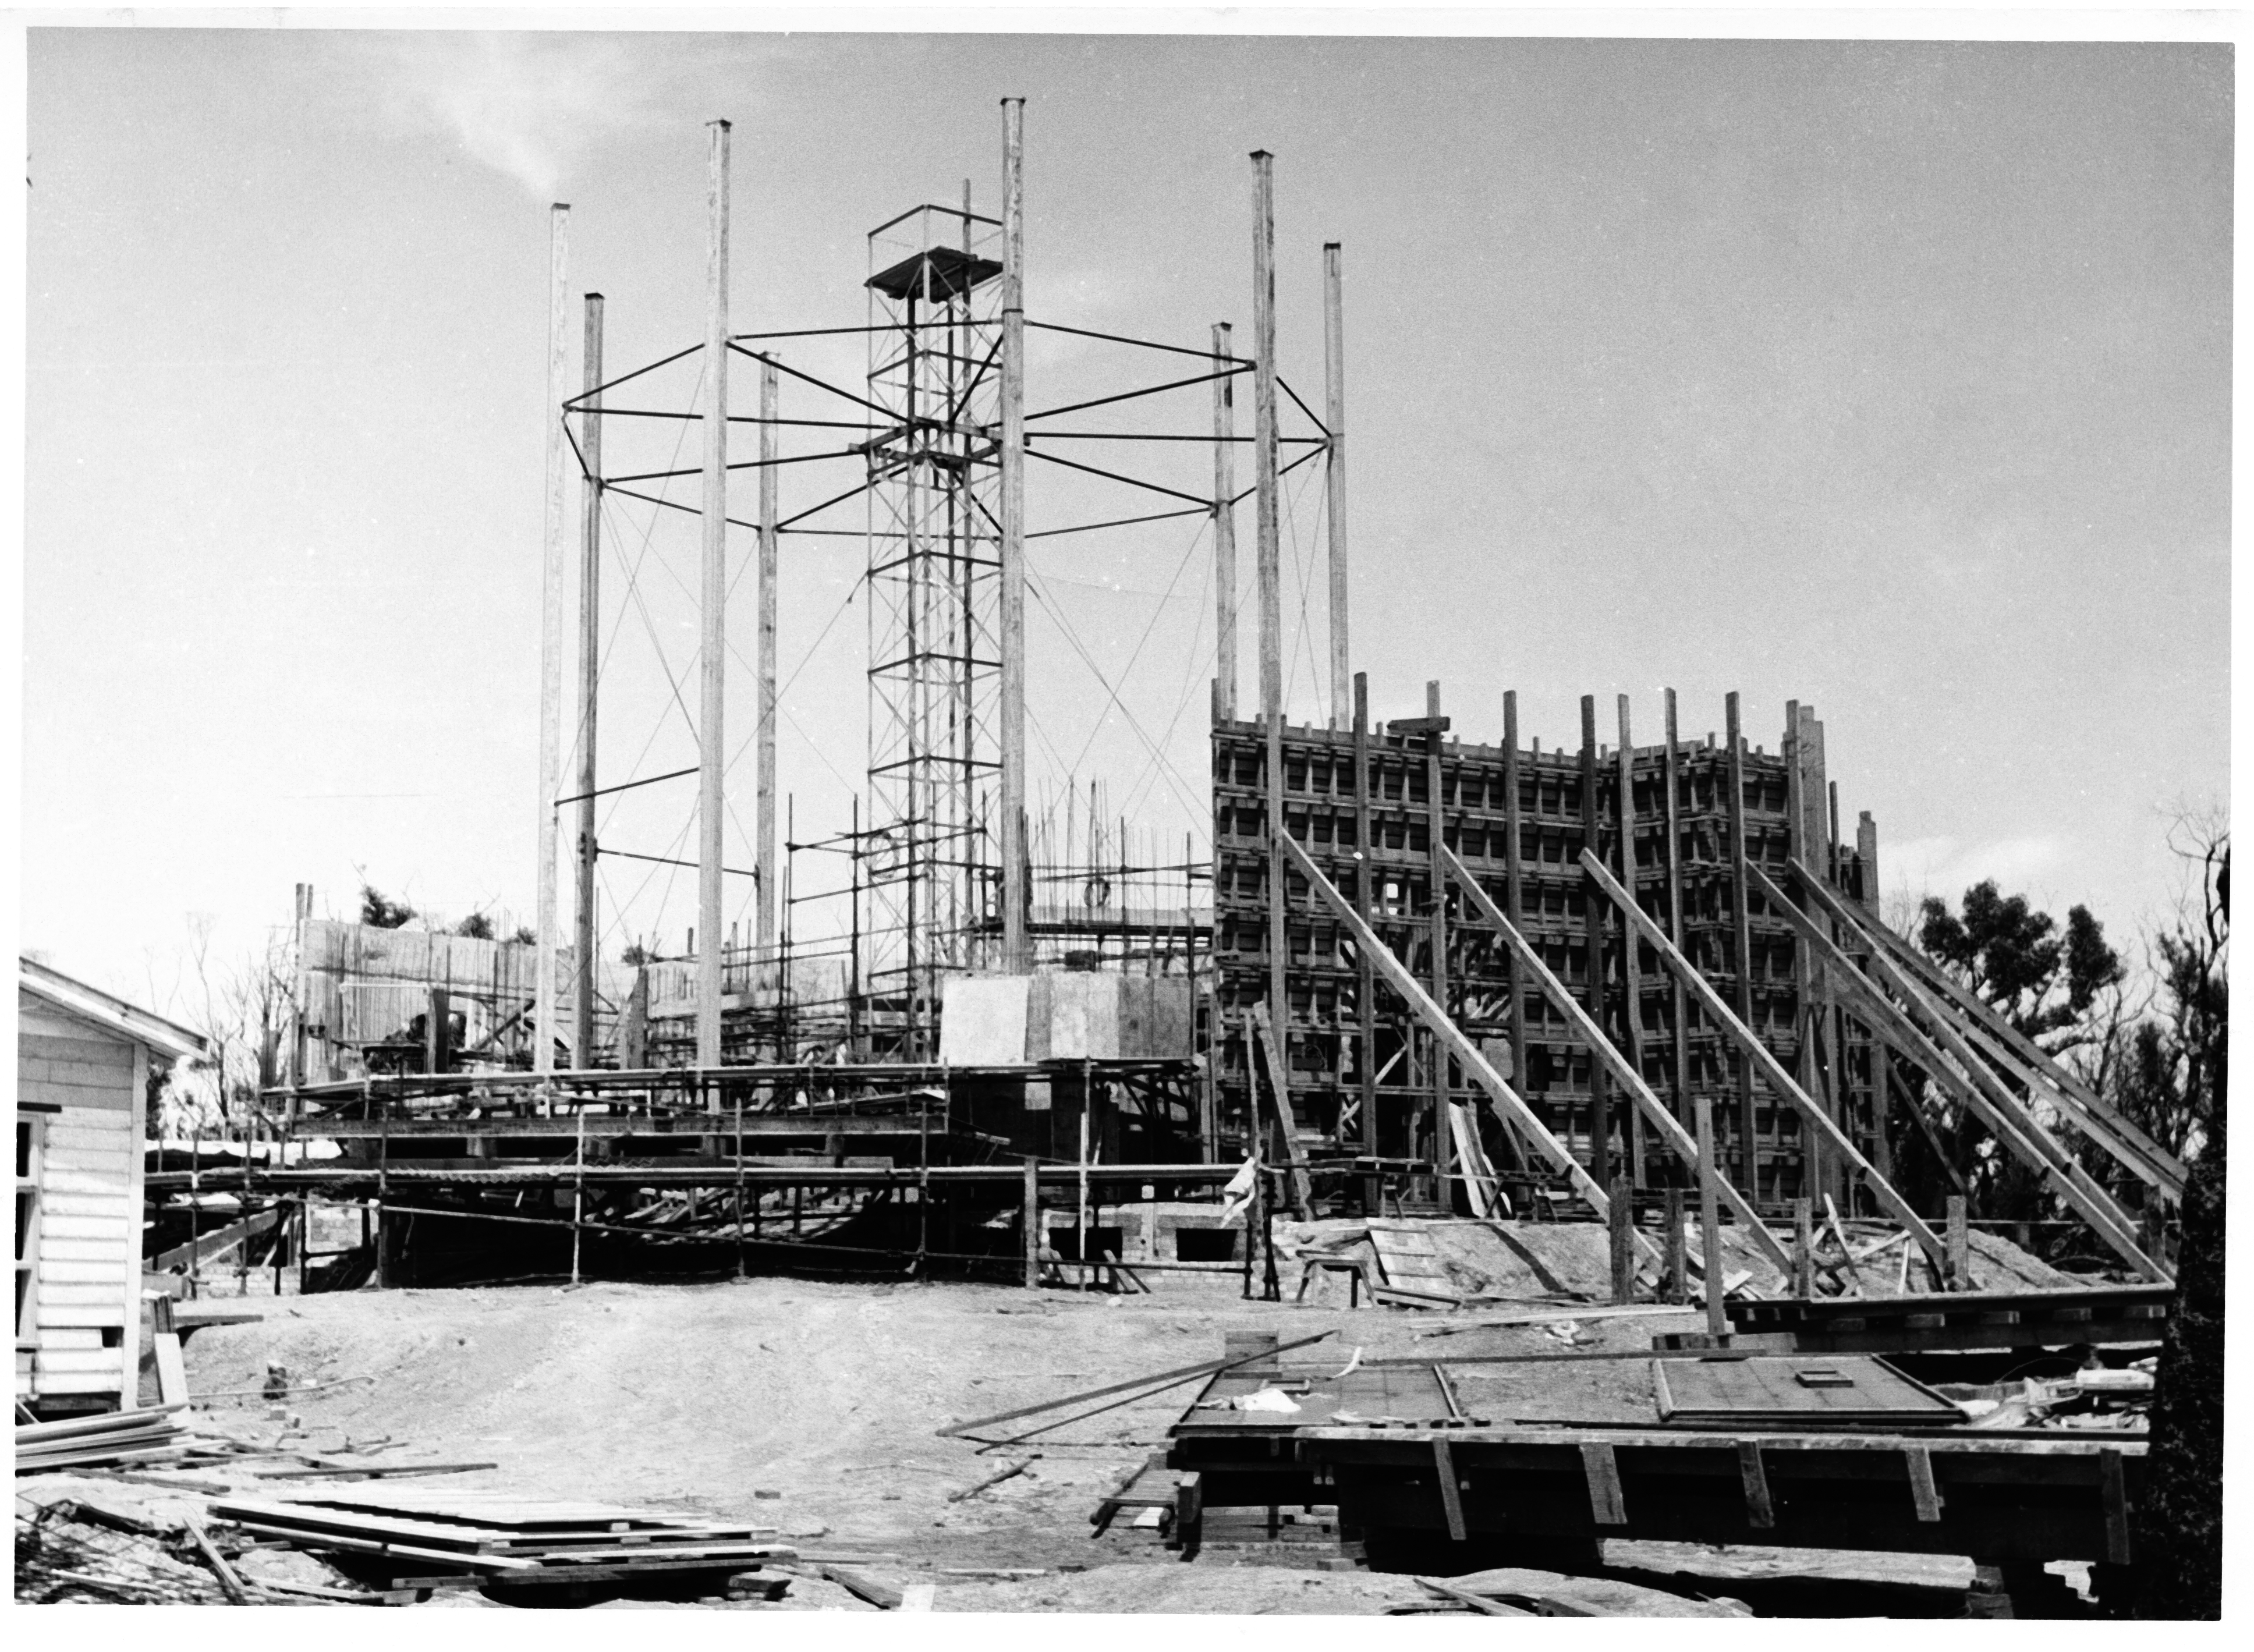
[[(1812, 741), (1803, 741), (1810, 753)], [(1368, 845), (1357, 841), (1355, 735), (1350, 730), (1287, 726), (1283, 735), (1285, 827), (1310, 859), (1346, 895), (1368, 872), (1366, 911), (1373, 931), (1425, 983), (1431, 983), (1431, 832), (1427, 787), (1427, 741), (1422, 735), (1368, 735)], [(1819, 748), (1814, 748), (1819, 764)], [(1720, 741), (1675, 746), (1677, 843), (1670, 865), (1666, 829), (1668, 748), (1636, 746), (1630, 762), (1630, 843), (1634, 863), (1623, 881), (1661, 929), (1670, 926), (1670, 877), (1679, 886), (1681, 935), (1690, 962), (1731, 1003), (1738, 992), (1733, 940), (1736, 879), (1729, 859), (1729, 753)], [(1801, 762), (1801, 798), (1794, 796), (1792, 764)], [(1589, 899), (1580, 870), (1582, 847), (1621, 874), (1621, 784), (1618, 755), (1596, 764), (1596, 818), (1582, 818), (1582, 753), (1521, 748), (1510, 760), (1501, 746), (1445, 741), (1440, 748), (1443, 834), (1499, 908), (1508, 899), (1508, 771), (1519, 784), (1519, 931), (1542, 962), (1589, 1007)], [(1862, 888), (1862, 865), (1853, 852), (1828, 843), (1803, 845), (1810, 820), (1819, 820), (1803, 798), (1821, 796), (1821, 769), (1808, 757), (1745, 753), (1745, 845), (1747, 859), (1783, 879), (1792, 854), (1810, 863), (1830, 861), (1842, 888)], [(1794, 805), (1801, 827), (1794, 829)], [(1251, 1091), (1246, 1071), (1246, 1023), (1269, 987), (1267, 922), (1267, 737), (1258, 721), (1213, 726), (1213, 983), (1217, 1025), (1213, 1039), (1215, 1086), (1224, 1131), (1246, 1129)], [(1542, 996), (1526, 971), (1512, 971), (1508, 949), (1461, 890), (1447, 892), (1447, 1012), (1479, 1041), (1497, 1066), (1512, 1075), (1542, 1122), (1582, 1163), (1591, 1163), (1589, 1095), (1594, 1057), (1564, 1016)], [(1693, 1095), (1715, 1100), (1715, 1122), (1724, 1161), (1738, 1167), (1742, 1185), (1742, 1109), (1738, 1100), (1738, 1055), (1704, 1016), (1690, 1030), (1677, 1028), (1677, 994), (1648, 944), (1636, 947), (1634, 1037), (1625, 1023), (1625, 956), (1618, 915), (1603, 897), (1603, 1014), (1612, 1041), (1639, 1062), (1652, 1091), (1679, 1118), (1690, 1118)], [(1278, 1041), (1301, 1129), (1323, 1138), (1323, 1154), (1366, 1152), (1375, 1143), (1382, 1158), (1431, 1154), (1431, 1057), (1429, 1041), (1388, 989), (1377, 987), (1373, 1023), (1364, 1037), (1359, 969), (1352, 938), (1305, 883), (1287, 877), (1289, 998)], [(1783, 917), (1760, 911), (1749, 917), (1751, 1028), (1763, 1043), (1803, 1080), (1846, 1129), (1855, 1145), (1882, 1154), (1882, 1113), (1873, 1107), (1869, 1034), (1805, 992), (1796, 938)], [(1515, 978), (1517, 976), (1517, 978)], [(1519, 996), (1524, 1048), (1512, 1046), (1512, 994)], [(1675, 1041), (1684, 1037), (1688, 1089), (1677, 1082)], [(1812, 1048), (1803, 1048), (1812, 1043)], [(1375, 1075), (1377, 1122), (1364, 1134), (1359, 1098), (1364, 1073)], [(1476, 1098), (1476, 1093), (1474, 1093)], [(1519, 1163), (1499, 1122), (1483, 1116), (1499, 1165)], [(1632, 1131), (1625, 1098), (1609, 1102), (1616, 1163), (1641, 1165), (1641, 1185), (1679, 1183), (1663, 1152), (1630, 1154)], [(1799, 1116), (1767, 1086), (1756, 1086), (1754, 1163), (1763, 1201), (1817, 1192), (1803, 1163)], [(1499, 1149), (1499, 1152), (1494, 1152)], [(1882, 1161), (1880, 1161), (1882, 1163)]]

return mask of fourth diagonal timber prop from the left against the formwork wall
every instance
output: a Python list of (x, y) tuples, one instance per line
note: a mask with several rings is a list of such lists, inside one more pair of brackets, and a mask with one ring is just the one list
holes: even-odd
[[(1801, 890), (1808, 892), (1810, 902), (1823, 908), (1823, 915), (1837, 924), (1851, 924), (1862, 931), (1855, 922), (1846, 902), (1833, 897), (1814, 874), (1799, 861), (1787, 861), (1792, 877)], [(1979, 1059), (1970, 1043), (1961, 1037), (1959, 1028), (1952, 1025), (1947, 1012), (1934, 1003), (1925, 992), (1916, 987), (1882, 951), (1873, 947), (1871, 951), (1871, 974), (1875, 983), (1855, 969), (1853, 960), (1839, 951), (1823, 926), (1817, 924), (1808, 913), (1792, 904), (1790, 897), (1758, 868), (1747, 868), (1751, 872), (1754, 888), (1760, 897), (1799, 931), (1801, 940), (1810, 944), (1814, 956), (1830, 969), (1842, 987), (1855, 998), (1857, 1010), (1871, 1019), (1887, 1025), (1893, 1037), (1898, 1037), (1911, 1059), (1934, 1075), (1945, 1089), (1954, 1091), (1956, 1098), (1970, 1107), (1995, 1138), (2020, 1158), (2020, 1163), (2033, 1167), (2038, 1174), (2049, 1176), (2058, 1194), (2092, 1226), (2092, 1231), (2110, 1244), (2123, 1262), (2144, 1273), (2155, 1285), (2171, 1282), (2171, 1273), (2155, 1262), (2137, 1244), (2137, 1224), (2114, 1204), (2112, 1194), (2105, 1192), (2087, 1170), (2074, 1163), (2074, 1154), (2058, 1145), (2042, 1125), (2035, 1122), (2033, 1113), (2022, 1107), (2020, 1098), (1997, 1080), (1995, 1071)], [(1909, 1012), (1891, 1005), (1880, 992), (1880, 987), (1891, 989)], [(1925, 1023), (1925, 1030), (1918, 1023)], [(1927, 1032), (1932, 1037), (1927, 1037)], [(1956, 1066), (1952, 1068), (1950, 1062)]]

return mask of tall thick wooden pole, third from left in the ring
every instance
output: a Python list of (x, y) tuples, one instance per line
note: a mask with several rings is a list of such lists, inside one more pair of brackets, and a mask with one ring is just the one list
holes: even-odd
[(721, 723), (728, 696), (728, 122), (710, 126), (706, 180), (703, 701), (696, 719), (696, 1066), (719, 1066)]

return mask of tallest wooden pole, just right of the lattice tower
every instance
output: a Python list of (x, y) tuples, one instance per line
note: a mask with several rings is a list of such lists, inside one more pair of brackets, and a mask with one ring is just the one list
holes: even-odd
[(1001, 99), (1001, 951), (1026, 935), (1026, 99)]

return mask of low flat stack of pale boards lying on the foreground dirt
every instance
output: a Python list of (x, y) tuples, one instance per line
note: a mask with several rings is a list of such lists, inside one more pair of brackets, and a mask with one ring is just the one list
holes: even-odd
[(503, 1492), (228, 1496), (212, 1503), (212, 1515), (313, 1551), (340, 1571), (381, 1578), (388, 1589), (694, 1584), (798, 1557), (773, 1542), (769, 1526)]

